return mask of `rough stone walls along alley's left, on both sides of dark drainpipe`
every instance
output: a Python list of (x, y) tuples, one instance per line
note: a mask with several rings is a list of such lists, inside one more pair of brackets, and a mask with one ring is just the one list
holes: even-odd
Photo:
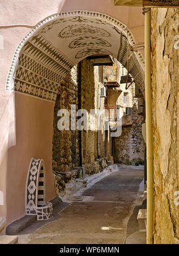
[[(98, 83), (103, 83), (103, 68), (93, 67), (88, 59), (81, 62), (81, 67), (81, 109), (90, 113), (91, 109), (98, 108)], [(57, 116), (58, 110), (66, 109), (70, 112), (71, 104), (76, 104), (77, 111), (78, 66), (73, 67), (61, 83), (54, 107), (53, 173), (57, 195), (63, 194), (66, 183), (81, 177), (82, 171), (82, 167), (79, 167), (78, 129), (72, 131), (69, 127), (69, 131), (60, 131), (57, 127), (58, 120), (61, 119)], [(104, 109), (104, 98), (101, 98), (100, 108)], [(87, 175), (98, 173), (107, 167), (104, 130), (99, 132), (99, 143), (98, 155), (97, 130), (82, 130), (82, 165)]]

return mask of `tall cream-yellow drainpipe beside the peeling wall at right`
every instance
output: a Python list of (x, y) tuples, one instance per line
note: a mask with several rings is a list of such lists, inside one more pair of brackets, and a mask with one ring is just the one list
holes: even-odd
[(145, 94), (147, 144), (147, 244), (153, 243), (153, 135), (150, 28), (151, 8), (143, 8), (145, 15)]

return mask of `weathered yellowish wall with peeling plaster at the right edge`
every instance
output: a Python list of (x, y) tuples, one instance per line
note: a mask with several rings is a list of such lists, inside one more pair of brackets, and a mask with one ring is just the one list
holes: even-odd
[(179, 243), (178, 10), (152, 9), (154, 242)]

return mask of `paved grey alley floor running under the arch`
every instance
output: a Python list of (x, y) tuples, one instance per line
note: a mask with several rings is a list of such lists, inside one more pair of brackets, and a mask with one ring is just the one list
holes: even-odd
[(118, 168), (82, 189), (84, 199), (61, 210), (61, 219), (18, 236), (19, 243), (125, 243), (128, 220), (143, 200), (143, 177), (143, 168)]

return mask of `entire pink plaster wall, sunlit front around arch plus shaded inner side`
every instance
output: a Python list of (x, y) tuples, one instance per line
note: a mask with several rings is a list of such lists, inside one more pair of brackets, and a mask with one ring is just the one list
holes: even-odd
[[(51, 14), (69, 10), (108, 14), (128, 26), (136, 43), (144, 41), (141, 8), (115, 7), (113, 0), (1, 1), (0, 35), (4, 46), (0, 49), (0, 192), (4, 204), (0, 204), (0, 215), (7, 216), (8, 224), (24, 215), (25, 181), (32, 156), (44, 158), (48, 173), (47, 200), (55, 196), (51, 167), (54, 103), (20, 94), (13, 98), (10, 92), (5, 92), (8, 71), (16, 47), (33, 26)], [(16, 141), (10, 143), (14, 121)]]

